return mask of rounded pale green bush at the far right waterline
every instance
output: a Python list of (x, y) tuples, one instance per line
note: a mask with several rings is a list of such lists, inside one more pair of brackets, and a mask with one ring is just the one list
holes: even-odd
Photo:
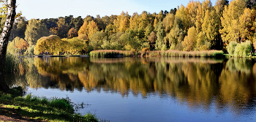
[(248, 53), (250, 53), (252, 50), (251, 42), (241, 42), (240, 44), (236, 45), (234, 56), (236, 57), (245, 57)]

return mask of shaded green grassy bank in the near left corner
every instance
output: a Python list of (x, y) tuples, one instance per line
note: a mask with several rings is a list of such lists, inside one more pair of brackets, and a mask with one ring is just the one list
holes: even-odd
[(75, 113), (74, 108), (78, 106), (83, 107), (83, 104), (74, 104), (69, 98), (23, 96), (21, 87), (12, 88), (7, 93), (0, 91), (0, 113), (7, 117), (16, 115), (21, 120), (34, 121), (99, 121), (91, 113)]

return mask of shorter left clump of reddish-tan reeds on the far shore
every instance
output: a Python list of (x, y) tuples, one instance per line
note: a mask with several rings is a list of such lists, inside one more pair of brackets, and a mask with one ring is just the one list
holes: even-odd
[(93, 50), (90, 52), (90, 56), (97, 57), (97, 58), (113, 58), (113, 57), (135, 56), (135, 53), (132, 51), (123, 51), (123, 50)]

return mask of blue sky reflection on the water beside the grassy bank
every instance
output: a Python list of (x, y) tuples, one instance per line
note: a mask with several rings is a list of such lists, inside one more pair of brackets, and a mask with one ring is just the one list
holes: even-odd
[(74, 103), (91, 104), (80, 113), (95, 113), (99, 118), (110, 121), (255, 121), (253, 111), (250, 115), (236, 116), (229, 110), (219, 112), (215, 104), (211, 109), (192, 109), (187, 104), (176, 102), (173, 98), (150, 96), (147, 99), (127, 97), (105, 91), (60, 91), (59, 89), (28, 88), (28, 93), (45, 97), (69, 97)]

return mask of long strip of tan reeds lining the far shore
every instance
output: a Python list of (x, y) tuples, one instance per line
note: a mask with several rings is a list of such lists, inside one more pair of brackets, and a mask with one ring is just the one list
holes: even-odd
[(223, 57), (222, 50), (206, 50), (206, 51), (178, 51), (178, 50), (166, 50), (166, 51), (139, 51), (134, 53), (131, 51), (121, 50), (94, 50), (90, 53), (91, 57), (108, 58), (118, 56), (144, 56), (144, 57)]

